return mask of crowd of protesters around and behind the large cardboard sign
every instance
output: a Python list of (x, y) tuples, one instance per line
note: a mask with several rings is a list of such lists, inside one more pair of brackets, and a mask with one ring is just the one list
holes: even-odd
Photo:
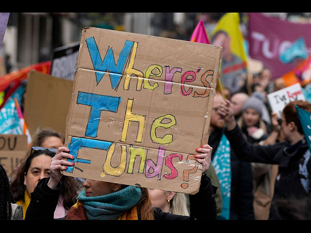
[(279, 118), (267, 71), (238, 92), (216, 93), (208, 145), (196, 149), (197, 194), (63, 176), (73, 164), (62, 158), (72, 155), (62, 134), (44, 129), (9, 177), (1, 166), (1, 219), (309, 219), (310, 150), (294, 106), (311, 112), (311, 103), (290, 102)]

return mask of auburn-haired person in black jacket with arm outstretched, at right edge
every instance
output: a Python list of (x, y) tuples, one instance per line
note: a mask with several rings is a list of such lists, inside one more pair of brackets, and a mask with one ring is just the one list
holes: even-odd
[(235, 121), (229, 100), (225, 100), (219, 109), (219, 114), (227, 124), (225, 135), (239, 159), (278, 165), (269, 219), (280, 217), (276, 205), (278, 200), (304, 198), (309, 196), (311, 191), (311, 155), (295, 105), (311, 112), (311, 103), (308, 101), (296, 100), (288, 103), (279, 122), (279, 131), (285, 141), (272, 145), (252, 145), (246, 141)]

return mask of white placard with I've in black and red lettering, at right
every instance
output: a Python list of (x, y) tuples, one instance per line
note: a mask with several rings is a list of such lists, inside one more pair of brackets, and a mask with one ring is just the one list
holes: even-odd
[(282, 116), (286, 104), (294, 100), (305, 100), (300, 83), (275, 91), (267, 95), (272, 112)]

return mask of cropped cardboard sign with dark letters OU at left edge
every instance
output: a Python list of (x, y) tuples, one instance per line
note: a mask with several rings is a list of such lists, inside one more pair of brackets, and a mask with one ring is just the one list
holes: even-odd
[(27, 155), (27, 136), (0, 134), (0, 164), (9, 176)]

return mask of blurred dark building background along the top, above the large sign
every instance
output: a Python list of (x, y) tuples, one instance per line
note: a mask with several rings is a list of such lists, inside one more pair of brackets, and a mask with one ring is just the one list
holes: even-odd
[[(13, 71), (52, 58), (58, 47), (80, 41), (84, 27), (98, 27), (190, 40), (203, 19), (211, 32), (225, 13), (10, 13), (0, 56), (9, 59)], [(240, 13), (246, 23), (246, 13)], [(284, 19), (309, 18), (311, 13), (264, 13)]]

